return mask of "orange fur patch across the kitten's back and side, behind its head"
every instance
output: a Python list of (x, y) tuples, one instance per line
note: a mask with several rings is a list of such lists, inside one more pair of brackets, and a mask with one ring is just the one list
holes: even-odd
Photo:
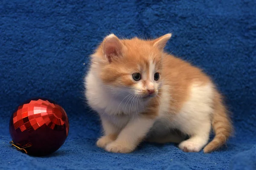
[(178, 113), (182, 105), (189, 98), (189, 90), (192, 83), (205, 85), (210, 82), (199, 68), (196, 68), (177, 57), (164, 54), (163, 58), (163, 74), (162, 77), (165, 84), (170, 85), (170, 94), (172, 100), (170, 101), (172, 108), (175, 108), (175, 113)]

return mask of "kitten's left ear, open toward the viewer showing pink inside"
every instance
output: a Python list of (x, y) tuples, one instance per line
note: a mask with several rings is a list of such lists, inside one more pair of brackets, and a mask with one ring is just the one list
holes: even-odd
[(113, 59), (122, 57), (124, 47), (123, 43), (114, 34), (108, 35), (102, 43), (104, 57), (110, 63)]

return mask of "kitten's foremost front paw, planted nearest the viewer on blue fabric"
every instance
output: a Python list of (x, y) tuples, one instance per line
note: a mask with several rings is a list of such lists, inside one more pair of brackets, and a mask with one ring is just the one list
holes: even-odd
[(112, 142), (108, 144), (105, 148), (108, 152), (113, 152), (113, 153), (131, 153), (135, 147), (130, 146), (130, 145), (125, 145), (121, 142)]

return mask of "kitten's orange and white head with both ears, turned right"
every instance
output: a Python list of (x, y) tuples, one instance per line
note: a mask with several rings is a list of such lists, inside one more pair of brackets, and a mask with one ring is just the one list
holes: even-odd
[(100, 79), (121, 98), (129, 94), (142, 99), (156, 96), (162, 82), (163, 48), (171, 36), (121, 40), (108, 35), (92, 55)]

